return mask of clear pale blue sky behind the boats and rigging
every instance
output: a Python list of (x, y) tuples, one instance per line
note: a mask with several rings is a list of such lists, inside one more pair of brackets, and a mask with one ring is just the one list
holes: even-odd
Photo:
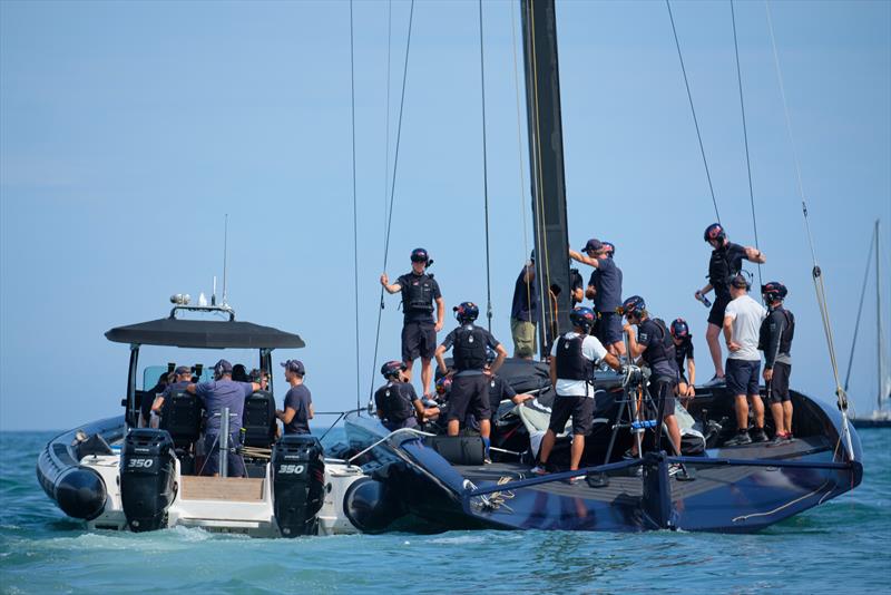
[[(672, 8), (721, 220), (753, 245), (731, 6)], [(304, 338), (274, 357), (303, 360), (317, 410), (354, 407), (356, 392), (364, 404), (399, 358), (399, 298), (379, 309), (384, 262), (395, 277), (412, 248), (429, 250), (446, 331), (452, 305), (484, 311), (478, 10), (415, 4), (385, 255), (409, 2), (353, 4), (354, 235), (349, 2), (0, 1), (0, 429), (121, 412), (128, 349), (102, 333), (167, 315), (173, 293), (209, 294), (226, 214), (228, 302), (239, 320)], [(830, 402), (765, 4), (735, 10), (764, 281), (790, 290), (793, 388)], [(512, 351), (510, 300), (531, 247), (519, 10), (482, 11), (492, 331)], [(891, 325), (891, 3), (771, 13), (843, 378), (877, 218)], [(624, 293), (688, 320), (707, 380), (693, 292), (715, 212), (665, 3), (558, 2), (557, 31), (570, 243), (614, 242)], [(874, 287), (850, 387), (862, 413), (877, 390)], [(141, 363), (194, 358), (155, 349)]]

